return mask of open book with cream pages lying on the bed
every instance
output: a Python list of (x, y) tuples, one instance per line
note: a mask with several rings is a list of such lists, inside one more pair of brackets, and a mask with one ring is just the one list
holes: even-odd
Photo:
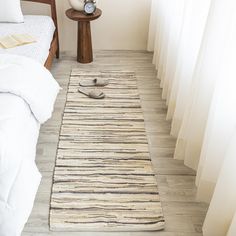
[(12, 34), (0, 38), (0, 47), (14, 48), (28, 43), (36, 42), (35, 38), (28, 34)]

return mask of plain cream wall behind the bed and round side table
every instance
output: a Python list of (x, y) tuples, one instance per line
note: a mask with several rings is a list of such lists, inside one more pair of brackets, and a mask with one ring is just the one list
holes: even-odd
[[(24, 14), (50, 14), (43, 4), (22, 3)], [(94, 49), (146, 50), (151, 0), (99, 0), (102, 16), (91, 22)], [(76, 51), (77, 22), (65, 16), (67, 0), (57, 0), (62, 51)]]

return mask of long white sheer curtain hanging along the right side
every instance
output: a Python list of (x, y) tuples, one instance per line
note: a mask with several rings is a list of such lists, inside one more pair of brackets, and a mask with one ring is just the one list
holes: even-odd
[(236, 235), (236, 1), (153, 0), (148, 49), (177, 138), (210, 203), (206, 236)]

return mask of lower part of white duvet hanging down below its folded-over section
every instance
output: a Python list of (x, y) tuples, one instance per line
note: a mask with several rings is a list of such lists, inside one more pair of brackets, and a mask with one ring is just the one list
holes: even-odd
[(19, 97), (0, 94), (0, 235), (19, 236), (41, 175), (35, 165), (39, 123)]

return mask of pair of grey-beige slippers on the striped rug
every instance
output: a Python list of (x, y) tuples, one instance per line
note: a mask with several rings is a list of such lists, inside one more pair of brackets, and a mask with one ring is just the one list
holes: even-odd
[(94, 89), (94, 90), (89, 90), (83, 87), (104, 87), (108, 85), (108, 80), (107, 79), (93, 79), (93, 80), (82, 80), (80, 81), (79, 85), (81, 86), (78, 89), (78, 92), (94, 99), (102, 99), (105, 98), (105, 93), (103, 93), (101, 90)]

